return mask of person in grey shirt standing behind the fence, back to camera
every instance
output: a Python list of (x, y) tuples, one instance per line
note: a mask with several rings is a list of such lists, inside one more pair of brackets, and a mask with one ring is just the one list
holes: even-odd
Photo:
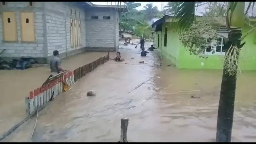
[(53, 51), (53, 58), (50, 60), (50, 68), (51, 68), (51, 75), (49, 77), (52, 77), (54, 75), (59, 74), (61, 71), (65, 71), (63, 68), (61, 68), (61, 62), (59, 58), (59, 51)]

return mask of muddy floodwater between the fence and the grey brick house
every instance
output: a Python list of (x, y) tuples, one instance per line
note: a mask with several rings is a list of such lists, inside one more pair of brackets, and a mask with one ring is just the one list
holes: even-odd
[[(105, 55), (107, 52), (77, 54), (62, 60), (62, 67), (74, 70)], [(42, 85), (49, 75), (49, 65), (26, 70), (0, 70), (0, 136), (27, 116), (25, 97)]]

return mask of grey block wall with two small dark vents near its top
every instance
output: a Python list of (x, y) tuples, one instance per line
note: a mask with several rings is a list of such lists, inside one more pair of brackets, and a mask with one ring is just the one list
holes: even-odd
[[(113, 8), (88, 8), (85, 11), (86, 50), (111, 51), (118, 49), (119, 16)], [(98, 19), (92, 19), (98, 16)], [(103, 16), (110, 16), (104, 20)]]

